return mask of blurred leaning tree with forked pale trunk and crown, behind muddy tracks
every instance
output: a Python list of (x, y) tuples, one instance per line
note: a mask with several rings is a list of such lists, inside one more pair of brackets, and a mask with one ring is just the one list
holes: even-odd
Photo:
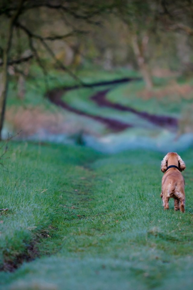
[(147, 89), (153, 86), (147, 61), (147, 47), (155, 26), (155, 5), (153, 1), (114, 1), (112, 12), (128, 27), (133, 51)]

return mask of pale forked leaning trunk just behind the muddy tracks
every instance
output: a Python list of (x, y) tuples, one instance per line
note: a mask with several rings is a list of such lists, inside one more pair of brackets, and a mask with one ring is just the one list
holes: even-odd
[(141, 48), (139, 46), (136, 34), (134, 34), (132, 37), (132, 43), (133, 43), (134, 54), (137, 58), (137, 63), (141, 71), (141, 74), (143, 76), (143, 79), (145, 81), (146, 88), (150, 90), (153, 87), (153, 82), (152, 82), (152, 78), (151, 78), (147, 63), (145, 62), (145, 57), (144, 57), (144, 51), (146, 50), (146, 47), (147, 47), (148, 37), (147, 36), (143, 37)]

